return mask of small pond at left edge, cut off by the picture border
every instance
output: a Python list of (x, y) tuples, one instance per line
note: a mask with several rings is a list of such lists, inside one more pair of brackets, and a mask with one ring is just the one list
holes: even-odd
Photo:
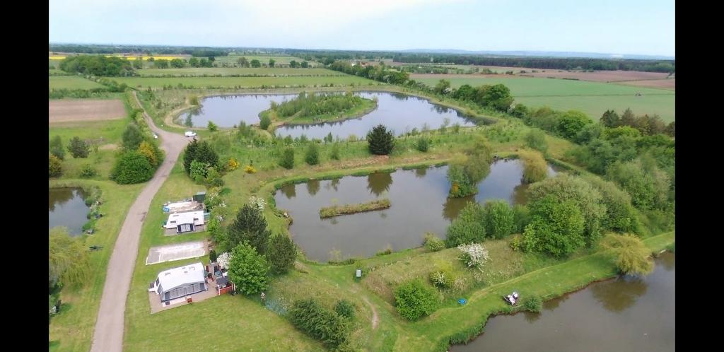
[(82, 188), (48, 189), (48, 228), (64, 226), (70, 235), (80, 235), (88, 222), (88, 206)]

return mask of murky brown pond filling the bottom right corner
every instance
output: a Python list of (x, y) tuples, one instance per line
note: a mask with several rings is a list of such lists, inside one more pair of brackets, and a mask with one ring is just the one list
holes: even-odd
[(542, 314), (494, 317), (450, 351), (674, 351), (675, 255), (642, 279), (618, 277), (548, 301)]

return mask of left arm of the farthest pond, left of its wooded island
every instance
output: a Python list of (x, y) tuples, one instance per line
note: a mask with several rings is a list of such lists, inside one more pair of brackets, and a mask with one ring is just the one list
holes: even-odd
[(243, 94), (236, 96), (209, 96), (201, 101), (201, 108), (177, 117), (179, 125), (191, 118), (193, 127), (206, 127), (209, 120), (219, 127), (233, 127), (243, 121), (247, 125), (259, 122), (259, 113), (269, 109), (271, 101), (281, 103), (296, 94)]

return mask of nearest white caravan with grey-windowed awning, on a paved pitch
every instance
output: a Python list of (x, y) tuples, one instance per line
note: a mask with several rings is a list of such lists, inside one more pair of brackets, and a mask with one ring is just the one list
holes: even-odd
[(203, 265), (190, 264), (185, 267), (168, 269), (159, 273), (156, 281), (151, 282), (148, 291), (161, 297), (161, 302), (209, 290), (204, 277)]

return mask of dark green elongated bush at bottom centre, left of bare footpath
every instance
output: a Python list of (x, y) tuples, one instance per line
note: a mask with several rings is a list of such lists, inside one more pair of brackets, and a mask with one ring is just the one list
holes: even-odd
[(314, 298), (295, 301), (288, 317), (294, 327), (321, 341), (327, 348), (340, 348), (348, 343), (345, 319), (321, 306)]

